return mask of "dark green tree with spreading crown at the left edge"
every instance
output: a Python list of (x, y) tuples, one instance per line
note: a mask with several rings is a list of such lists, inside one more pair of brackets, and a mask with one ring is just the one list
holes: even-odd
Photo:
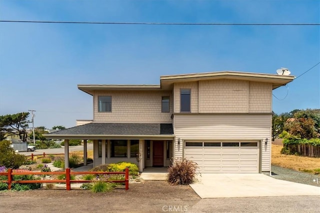
[(18, 135), (22, 141), (26, 141), (26, 128), (28, 128), (28, 112), (19, 112), (13, 115), (0, 116), (0, 130), (8, 135)]

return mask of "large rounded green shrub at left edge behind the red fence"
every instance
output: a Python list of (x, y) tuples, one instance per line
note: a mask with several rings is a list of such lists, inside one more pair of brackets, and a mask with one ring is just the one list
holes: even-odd
[(9, 141), (0, 141), (0, 165), (6, 168), (18, 169), (25, 164), (26, 157), (14, 152)]

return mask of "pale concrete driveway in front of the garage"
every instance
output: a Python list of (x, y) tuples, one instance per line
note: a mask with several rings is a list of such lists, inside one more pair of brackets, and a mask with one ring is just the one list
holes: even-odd
[(263, 174), (202, 174), (190, 187), (200, 198), (320, 195), (320, 187), (277, 180)]

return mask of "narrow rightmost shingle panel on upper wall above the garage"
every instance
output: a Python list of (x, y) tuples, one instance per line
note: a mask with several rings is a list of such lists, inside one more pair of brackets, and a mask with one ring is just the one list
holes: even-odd
[(249, 83), (249, 112), (272, 111), (272, 84), (262, 82)]

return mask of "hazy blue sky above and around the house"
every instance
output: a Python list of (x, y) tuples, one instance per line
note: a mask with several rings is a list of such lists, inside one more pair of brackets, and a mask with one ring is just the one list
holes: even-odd
[[(319, 0), (0, 0), (1, 20), (319, 23)], [(245, 71), (299, 76), (320, 61), (320, 26), (0, 22), (0, 114), (34, 125), (92, 119), (77, 84), (159, 84), (160, 75)], [(320, 108), (320, 66), (273, 94), (276, 113)]]

